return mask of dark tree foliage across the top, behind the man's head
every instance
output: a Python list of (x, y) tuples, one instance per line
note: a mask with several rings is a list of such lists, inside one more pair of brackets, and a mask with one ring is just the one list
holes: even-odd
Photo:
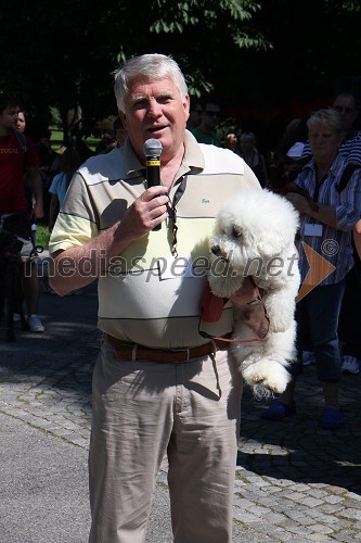
[(30, 114), (116, 114), (112, 72), (171, 54), (192, 94), (270, 104), (356, 72), (359, 2), (344, 0), (0, 0), (0, 86)]

